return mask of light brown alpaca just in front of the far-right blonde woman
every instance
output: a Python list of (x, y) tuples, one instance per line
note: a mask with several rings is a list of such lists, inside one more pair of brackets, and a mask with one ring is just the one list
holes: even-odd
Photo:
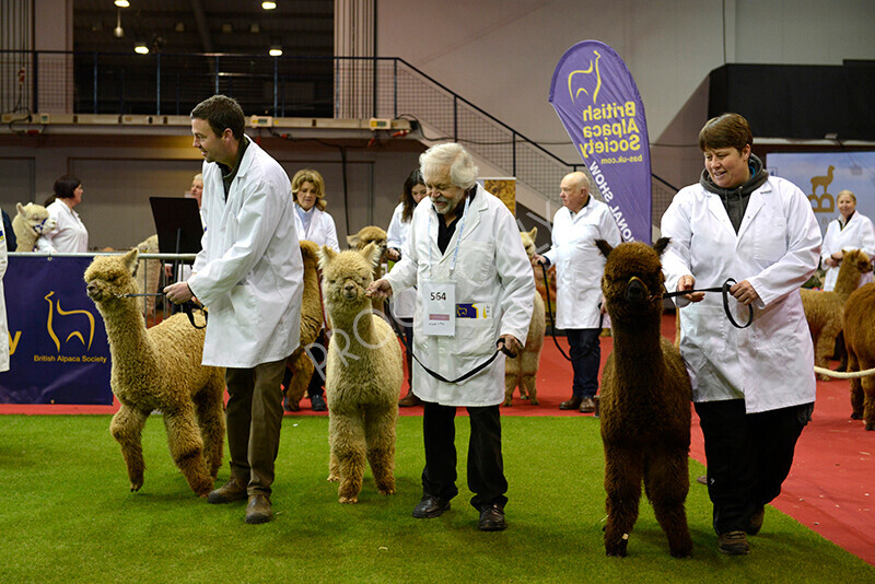
[[(808, 330), (814, 342), (814, 364), (826, 367), (829, 355), (836, 347), (836, 337), (841, 332), (844, 303), (851, 292), (860, 285), (860, 277), (872, 271), (868, 256), (860, 250), (847, 252), (839, 268), (836, 288), (830, 292), (803, 288), (802, 306), (805, 308), (805, 319), (808, 320)], [(821, 381), (830, 377), (817, 374)]]

